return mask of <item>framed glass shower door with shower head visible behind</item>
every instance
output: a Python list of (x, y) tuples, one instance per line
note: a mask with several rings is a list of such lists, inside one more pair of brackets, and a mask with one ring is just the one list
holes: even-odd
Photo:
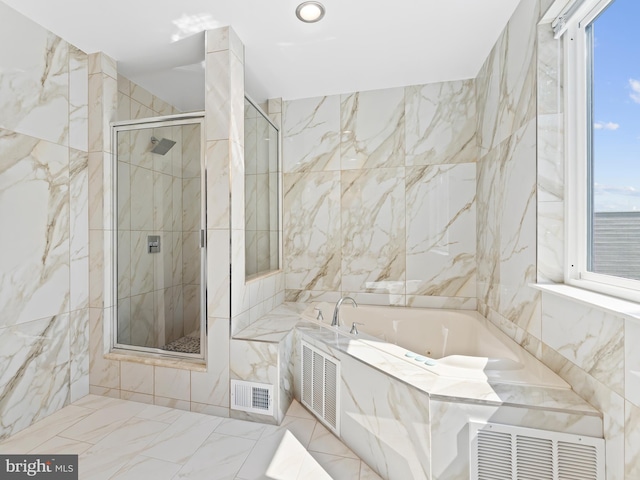
[(202, 116), (113, 127), (115, 348), (203, 358)]

